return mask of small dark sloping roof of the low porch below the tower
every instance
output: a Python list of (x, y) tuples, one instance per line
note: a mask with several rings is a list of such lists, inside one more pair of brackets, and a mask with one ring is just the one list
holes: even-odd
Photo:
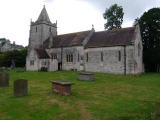
[(48, 53), (44, 49), (35, 49), (39, 59), (49, 58)]

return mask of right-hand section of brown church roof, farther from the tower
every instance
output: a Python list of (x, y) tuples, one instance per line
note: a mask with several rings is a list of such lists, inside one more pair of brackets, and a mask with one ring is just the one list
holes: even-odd
[(85, 48), (130, 45), (135, 37), (135, 27), (93, 33)]

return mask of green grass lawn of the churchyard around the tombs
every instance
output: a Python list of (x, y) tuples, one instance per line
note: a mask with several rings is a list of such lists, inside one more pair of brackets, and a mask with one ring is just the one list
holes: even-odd
[[(160, 74), (123, 76), (97, 73), (96, 81), (78, 81), (78, 73), (10, 72), (0, 88), (0, 120), (152, 120), (160, 102)], [(13, 81), (29, 80), (29, 95), (13, 96)], [(51, 91), (50, 80), (74, 83), (71, 96)]]

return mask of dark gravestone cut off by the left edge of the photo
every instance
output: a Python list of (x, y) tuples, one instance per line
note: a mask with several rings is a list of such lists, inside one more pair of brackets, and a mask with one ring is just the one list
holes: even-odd
[(9, 74), (7, 72), (0, 72), (0, 87), (9, 86)]

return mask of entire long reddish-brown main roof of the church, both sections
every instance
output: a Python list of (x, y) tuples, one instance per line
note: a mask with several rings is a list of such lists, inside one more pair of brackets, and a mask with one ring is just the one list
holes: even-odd
[[(59, 47), (71, 47), (82, 46), (83, 41), (89, 35), (91, 31), (76, 32), (70, 34), (58, 35), (50, 37), (44, 42), (44, 48), (59, 48)], [(115, 29), (94, 32), (90, 37), (85, 48), (98, 48), (109, 46), (123, 46), (133, 44), (135, 39), (135, 27)], [(49, 42), (53, 41), (53, 42)], [(52, 45), (49, 45), (52, 44)]]

